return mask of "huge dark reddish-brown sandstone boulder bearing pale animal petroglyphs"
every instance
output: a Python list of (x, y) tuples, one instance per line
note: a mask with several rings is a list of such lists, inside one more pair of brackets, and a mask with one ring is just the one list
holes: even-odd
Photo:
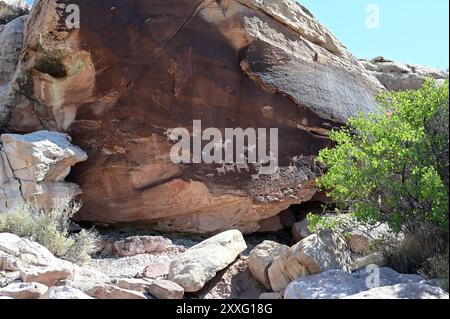
[[(80, 28), (68, 29), (65, 2), (35, 3), (14, 82), (26, 98), (1, 124), (65, 131), (87, 151), (70, 176), (84, 193), (79, 220), (257, 231), (314, 196), (312, 157), (330, 128), (373, 110), (382, 89), (294, 0), (71, 3)], [(306, 158), (276, 180), (175, 165), (164, 133), (194, 119), (278, 128), (280, 165)]]

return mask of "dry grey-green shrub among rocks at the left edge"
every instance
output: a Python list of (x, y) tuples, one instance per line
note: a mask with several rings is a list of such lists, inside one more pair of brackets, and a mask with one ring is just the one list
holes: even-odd
[(0, 214), (0, 232), (12, 233), (38, 242), (55, 256), (84, 263), (98, 246), (98, 235), (94, 230), (70, 233), (70, 218), (81, 204), (72, 198), (55, 200), (49, 211), (36, 209), (27, 203), (18, 209)]

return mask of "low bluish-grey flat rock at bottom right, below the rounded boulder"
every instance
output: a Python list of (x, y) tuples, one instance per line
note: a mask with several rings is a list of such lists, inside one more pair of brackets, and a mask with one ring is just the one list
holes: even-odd
[(299, 278), (288, 285), (285, 299), (339, 299), (367, 291), (379, 284), (380, 287), (397, 284), (415, 284), (424, 279), (417, 275), (403, 275), (390, 268), (379, 268), (379, 277), (374, 281), (373, 270), (358, 270), (347, 273), (342, 270), (328, 270)]

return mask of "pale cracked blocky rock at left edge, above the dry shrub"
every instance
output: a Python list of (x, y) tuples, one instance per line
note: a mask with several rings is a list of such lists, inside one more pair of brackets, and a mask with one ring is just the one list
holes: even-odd
[(57, 198), (74, 197), (81, 189), (64, 182), (86, 153), (62, 133), (39, 131), (0, 137), (0, 213), (32, 202), (49, 209)]

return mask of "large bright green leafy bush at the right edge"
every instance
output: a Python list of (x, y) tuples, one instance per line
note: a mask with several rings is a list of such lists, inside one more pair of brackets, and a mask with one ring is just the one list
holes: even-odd
[(387, 222), (400, 232), (432, 223), (448, 232), (448, 81), (382, 94), (380, 111), (350, 119), (331, 133), (335, 147), (318, 161), (339, 211), (359, 221)]

